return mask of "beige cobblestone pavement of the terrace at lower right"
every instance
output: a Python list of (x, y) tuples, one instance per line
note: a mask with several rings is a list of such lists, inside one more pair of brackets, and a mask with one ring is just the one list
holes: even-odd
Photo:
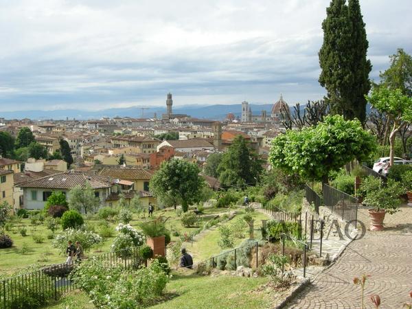
[[(369, 224), (366, 209), (360, 209), (358, 218)], [(360, 308), (361, 288), (352, 280), (364, 273), (371, 276), (365, 288), (366, 308), (374, 308), (372, 294), (380, 296), (380, 308), (402, 308), (411, 301), (412, 207), (402, 207), (385, 222), (385, 231), (367, 231), (352, 242), (288, 308)]]

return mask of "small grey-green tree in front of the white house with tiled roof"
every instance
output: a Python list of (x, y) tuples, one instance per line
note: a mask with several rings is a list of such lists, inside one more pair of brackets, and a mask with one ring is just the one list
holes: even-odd
[(91, 185), (87, 183), (84, 187), (77, 185), (69, 192), (69, 208), (77, 211), (95, 211), (100, 206), (100, 199), (95, 196)]

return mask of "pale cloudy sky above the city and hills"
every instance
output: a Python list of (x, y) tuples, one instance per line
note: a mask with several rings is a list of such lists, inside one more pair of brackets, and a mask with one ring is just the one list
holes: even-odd
[[(329, 0), (0, 0), (0, 108), (317, 100)], [(371, 78), (412, 54), (411, 0), (361, 0)]]

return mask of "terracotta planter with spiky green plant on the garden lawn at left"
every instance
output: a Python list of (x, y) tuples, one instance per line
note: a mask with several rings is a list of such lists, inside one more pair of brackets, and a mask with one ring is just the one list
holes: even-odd
[(165, 236), (169, 235), (164, 222), (159, 218), (141, 223), (141, 230), (146, 235), (146, 244), (152, 248), (153, 256), (165, 256)]

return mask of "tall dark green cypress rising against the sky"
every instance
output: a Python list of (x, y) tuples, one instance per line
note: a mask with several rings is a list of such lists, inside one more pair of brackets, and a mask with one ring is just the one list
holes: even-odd
[(319, 51), (319, 82), (328, 94), (332, 114), (365, 122), (365, 95), (370, 89), (371, 63), (358, 0), (332, 0), (322, 23), (323, 45)]

